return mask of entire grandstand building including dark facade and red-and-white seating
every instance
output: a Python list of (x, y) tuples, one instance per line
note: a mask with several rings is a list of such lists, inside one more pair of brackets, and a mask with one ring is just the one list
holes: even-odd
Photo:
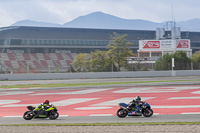
[[(0, 28), (0, 71), (67, 72), (78, 53), (106, 50), (114, 33), (127, 34), (137, 55), (140, 40), (156, 39), (156, 30), (87, 29), (64, 27), (11, 26)], [(168, 39), (171, 31), (164, 31)], [(192, 52), (200, 49), (200, 32), (180, 32), (190, 40)], [(158, 55), (154, 55), (158, 56)]]

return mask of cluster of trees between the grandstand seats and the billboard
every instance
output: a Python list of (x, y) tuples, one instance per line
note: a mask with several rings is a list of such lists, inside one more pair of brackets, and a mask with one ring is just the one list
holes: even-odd
[[(127, 67), (127, 58), (133, 56), (131, 46), (127, 42), (127, 34), (113, 33), (111, 41), (107, 45), (107, 51), (96, 50), (89, 55), (80, 53), (75, 56), (72, 63), (72, 71), (77, 72), (109, 72), (121, 71)], [(75, 70), (74, 70), (75, 69)]]

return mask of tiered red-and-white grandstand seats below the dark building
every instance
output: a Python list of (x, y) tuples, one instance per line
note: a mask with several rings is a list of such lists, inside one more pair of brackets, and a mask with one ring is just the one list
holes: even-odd
[(29, 70), (65, 70), (70, 67), (76, 53), (0, 53), (5, 70), (26, 72)]

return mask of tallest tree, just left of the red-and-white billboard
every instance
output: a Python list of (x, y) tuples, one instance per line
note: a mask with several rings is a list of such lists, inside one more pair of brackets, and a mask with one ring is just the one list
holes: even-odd
[(133, 43), (127, 42), (127, 34), (120, 35), (113, 33), (111, 35), (111, 41), (107, 45), (108, 56), (112, 63), (116, 64), (117, 70), (120, 71), (121, 67), (127, 66), (127, 58), (132, 56), (132, 50), (130, 48)]

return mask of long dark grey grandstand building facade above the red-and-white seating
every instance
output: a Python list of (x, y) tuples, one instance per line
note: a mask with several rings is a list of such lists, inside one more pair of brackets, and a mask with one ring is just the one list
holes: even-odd
[[(134, 53), (139, 49), (139, 40), (156, 39), (156, 31), (15, 26), (0, 28), (0, 52), (90, 53), (106, 50), (114, 32), (128, 35)], [(170, 36), (171, 32), (165, 34)], [(200, 49), (200, 32), (183, 31), (181, 38), (190, 39), (193, 52)]]

